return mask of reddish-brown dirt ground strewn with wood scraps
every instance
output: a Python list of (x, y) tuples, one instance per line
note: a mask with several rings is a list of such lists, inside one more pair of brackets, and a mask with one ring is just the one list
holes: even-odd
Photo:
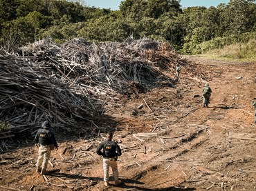
[[(156, 88), (108, 108), (104, 132), (95, 128), (96, 136), (68, 141), (57, 135), (60, 148), (44, 177), (35, 172), (32, 141), (1, 154), (0, 190), (256, 190), (256, 63), (187, 59), (207, 66), (209, 108), (202, 107), (206, 81), (185, 79), (181, 71), (176, 88)], [(105, 187), (95, 149), (113, 128), (123, 184)]]

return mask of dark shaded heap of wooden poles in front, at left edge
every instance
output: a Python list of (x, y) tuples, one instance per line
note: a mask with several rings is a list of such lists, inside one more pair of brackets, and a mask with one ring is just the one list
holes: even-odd
[(74, 94), (65, 83), (40, 72), (48, 66), (37, 66), (20, 57), (0, 62), (2, 121), (26, 128), (44, 120), (73, 125), (77, 119), (94, 116), (95, 107), (89, 105), (95, 101)]

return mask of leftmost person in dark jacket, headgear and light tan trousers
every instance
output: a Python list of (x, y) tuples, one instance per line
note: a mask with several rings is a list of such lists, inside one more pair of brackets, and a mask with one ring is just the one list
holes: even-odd
[(40, 128), (35, 135), (35, 143), (39, 144), (39, 157), (37, 159), (36, 172), (45, 174), (48, 160), (51, 156), (51, 150), (58, 149), (55, 136), (51, 131), (51, 123), (49, 121), (44, 121), (42, 123), (42, 128)]

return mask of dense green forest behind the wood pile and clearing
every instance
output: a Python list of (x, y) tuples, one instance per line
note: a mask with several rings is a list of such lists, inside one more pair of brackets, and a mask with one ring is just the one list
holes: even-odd
[(238, 44), (253, 57), (255, 31), (255, 0), (230, 0), (216, 8), (181, 8), (175, 0), (125, 0), (114, 11), (65, 0), (0, 0), (0, 43), (6, 52), (47, 37), (99, 42), (132, 36), (167, 41), (181, 54)]

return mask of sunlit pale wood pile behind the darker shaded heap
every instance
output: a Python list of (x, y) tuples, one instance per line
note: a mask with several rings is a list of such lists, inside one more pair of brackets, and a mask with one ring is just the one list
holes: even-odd
[(24, 48), (22, 54), (33, 55), (39, 66), (51, 68), (55, 78), (68, 83), (70, 88), (78, 89), (77, 84), (81, 85), (77, 93), (90, 92), (96, 98), (116, 92), (133, 94), (131, 82), (145, 88), (158, 86), (160, 78), (172, 83), (163, 69), (170, 71), (180, 60), (166, 44), (146, 38), (98, 44), (73, 39), (58, 46), (48, 40)]

